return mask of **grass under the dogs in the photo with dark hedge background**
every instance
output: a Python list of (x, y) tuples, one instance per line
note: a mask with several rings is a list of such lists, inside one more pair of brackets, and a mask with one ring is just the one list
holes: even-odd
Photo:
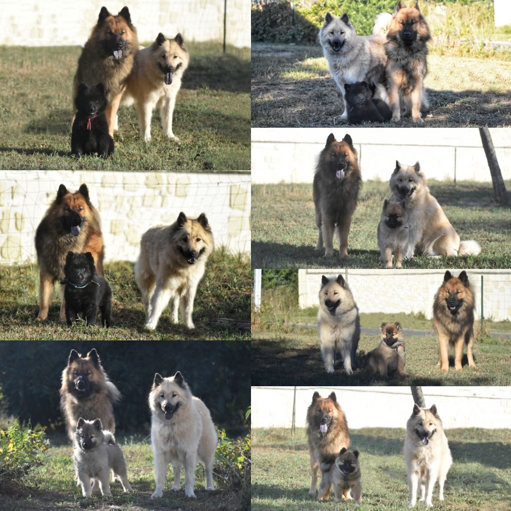
[[(133, 493), (124, 493), (121, 483), (111, 483), (112, 497), (102, 497), (95, 494), (87, 499), (82, 497), (81, 489), (74, 481), (73, 449), (71, 445), (62, 442), (50, 448), (43, 456), (44, 464), (37, 469), (32, 477), (34, 485), (26, 486), (16, 493), (2, 495), (0, 508), (2, 511), (56, 511), (58, 509), (96, 509), (99, 511), (142, 511), (143, 509), (202, 509), (214, 511), (216, 509), (233, 509), (238, 511), (247, 509), (248, 497), (233, 490), (225, 484), (220, 477), (218, 462), (214, 466), (216, 490), (205, 490), (204, 468), (199, 464), (196, 470), (196, 499), (184, 496), (184, 471), (181, 472), (181, 489), (178, 492), (170, 491), (172, 486), (172, 467), (167, 475), (167, 484), (164, 496), (161, 499), (151, 499), (154, 491), (154, 464), (149, 438), (120, 439), (120, 445), (126, 460), (128, 480), (133, 487)], [(170, 484), (169, 484), (170, 483)]]

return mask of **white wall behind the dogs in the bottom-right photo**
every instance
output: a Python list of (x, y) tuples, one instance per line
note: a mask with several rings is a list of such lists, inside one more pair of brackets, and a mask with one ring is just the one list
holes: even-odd
[[(445, 428), (509, 428), (509, 387), (422, 387), (426, 406), (436, 405)], [(409, 387), (298, 387), (296, 426), (305, 427), (312, 394), (332, 390), (350, 428), (404, 428), (413, 399)], [(290, 428), (293, 387), (252, 387), (252, 428)], [(449, 436), (449, 435), (448, 435)]]

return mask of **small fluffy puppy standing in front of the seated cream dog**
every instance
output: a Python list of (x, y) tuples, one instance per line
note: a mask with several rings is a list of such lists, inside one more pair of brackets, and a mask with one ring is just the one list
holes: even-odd
[(385, 268), (392, 268), (392, 254), (396, 259), (396, 268), (401, 268), (403, 254), (408, 243), (408, 212), (406, 201), (383, 201), (383, 210), (378, 224), (378, 246), (380, 261)]

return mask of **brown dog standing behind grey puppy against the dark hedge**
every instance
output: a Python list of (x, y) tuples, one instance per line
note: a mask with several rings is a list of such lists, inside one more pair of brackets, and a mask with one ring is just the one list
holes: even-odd
[(115, 431), (113, 403), (121, 399), (121, 393), (108, 379), (101, 365), (98, 352), (90, 350), (82, 357), (71, 350), (67, 365), (62, 371), (60, 408), (66, 422), (67, 435), (73, 439), (78, 419), (86, 421), (101, 419), (105, 429)]

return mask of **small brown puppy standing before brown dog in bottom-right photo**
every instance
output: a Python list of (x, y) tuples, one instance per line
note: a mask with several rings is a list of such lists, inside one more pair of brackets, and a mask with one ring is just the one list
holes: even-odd
[(358, 454), (357, 450), (348, 451), (343, 447), (333, 462), (332, 459), (327, 458), (320, 464), (319, 468), (323, 477), (319, 486), (318, 500), (327, 500), (330, 488), (333, 486), (336, 502), (347, 500), (350, 490), (354, 501), (361, 501), (362, 486)]

